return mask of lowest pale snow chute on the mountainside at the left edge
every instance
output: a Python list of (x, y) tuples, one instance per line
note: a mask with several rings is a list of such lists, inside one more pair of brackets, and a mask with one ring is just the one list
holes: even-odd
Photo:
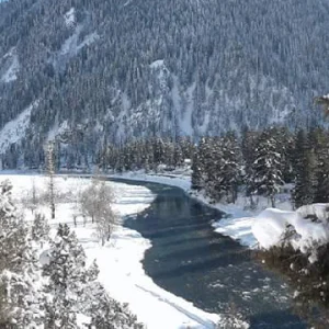
[(0, 155), (4, 154), (12, 144), (16, 144), (24, 138), (30, 125), (31, 112), (37, 104), (37, 101), (31, 104), (0, 131)]

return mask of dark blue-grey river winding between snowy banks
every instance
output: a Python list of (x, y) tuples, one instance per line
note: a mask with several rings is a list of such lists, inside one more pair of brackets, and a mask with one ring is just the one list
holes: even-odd
[(240, 313), (250, 328), (307, 328), (291, 311), (287, 284), (251, 259), (250, 251), (215, 234), (223, 214), (188, 197), (181, 190), (154, 183), (156, 200), (125, 226), (150, 239), (144, 269), (162, 288), (208, 313)]

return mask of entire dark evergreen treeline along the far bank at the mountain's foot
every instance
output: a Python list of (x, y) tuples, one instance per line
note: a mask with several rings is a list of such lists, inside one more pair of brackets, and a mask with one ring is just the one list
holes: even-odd
[(238, 193), (268, 197), (275, 207), (275, 196), (284, 184), (294, 184), (295, 207), (329, 202), (329, 133), (321, 127), (290, 132), (271, 127), (261, 132), (245, 129), (218, 137), (203, 137), (195, 145), (190, 138), (154, 138), (107, 145), (98, 156), (101, 168), (114, 171), (170, 171), (192, 160), (192, 189), (214, 202), (235, 203)]

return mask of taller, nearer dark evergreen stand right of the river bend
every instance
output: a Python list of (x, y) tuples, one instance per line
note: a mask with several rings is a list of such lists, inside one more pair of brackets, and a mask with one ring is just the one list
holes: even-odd
[(193, 159), (192, 185), (214, 201), (235, 202), (238, 192), (275, 195), (294, 183), (296, 207), (329, 201), (329, 134), (322, 128), (295, 133), (272, 127), (224, 137), (203, 138)]

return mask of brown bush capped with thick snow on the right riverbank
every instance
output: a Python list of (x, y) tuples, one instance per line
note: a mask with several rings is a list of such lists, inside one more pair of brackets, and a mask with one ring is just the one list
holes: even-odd
[[(304, 206), (297, 212), (266, 209), (256, 219), (257, 257), (291, 279), (302, 308), (329, 306), (329, 224), (327, 205)], [(306, 216), (306, 218), (304, 217)], [(305, 311), (310, 316), (314, 311)], [(329, 316), (321, 318), (329, 326)], [(316, 327), (320, 328), (320, 327)], [(326, 327), (328, 328), (328, 327)]]

